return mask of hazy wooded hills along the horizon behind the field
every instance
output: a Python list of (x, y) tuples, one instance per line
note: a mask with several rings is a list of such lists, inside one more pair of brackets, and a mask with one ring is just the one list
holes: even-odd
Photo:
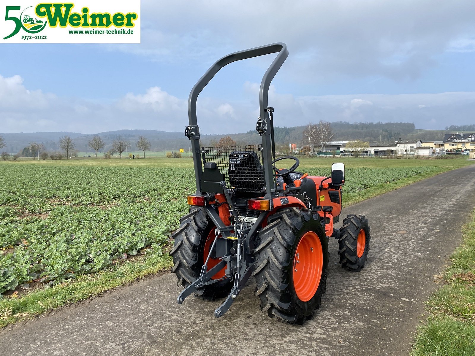
[[(410, 122), (331, 122), (333, 131), (332, 141), (397, 141), (421, 139), (422, 141), (441, 141), (446, 133), (456, 131), (475, 131), (475, 125), (450, 126), (446, 131), (415, 129)], [(302, 145), (302, 133), (305, 126), (295, 127), (276, 127), (275, 138), (276, 145), (296, 143), (298, 147)], [(0, 133), (3, 136), (7, 146), (2, 149), (10, 153), (21, 152), (29, 142), (43, 144), (45, 150), (58, 150), (58, 141), (64, 136), (69, 135), (76, 143), (76, 150), (91, 151), (87, 148), (87, 141), (93, 135), (78, 132), (20, 132), (20, 133)], [(130, 150), (136, 150), (135, 143), (139, 136), (145, 136), (152, 144), (152, 150), (176, 150), (178, 148), (188, 148), (190, 141), (183, 132), (176, 131), (157, 131), (157, 130), (119, 130), (99, 132), (99, 136), (105, 142), (104, 151), (111, 149), (112, 141), (117, 136), (122, 136), (130, 142)], [(209, 146), (213, 142), (219, 141), (224, 136), (231, 138), (239, 145), (254, 144), (261, 142), (260, 136), (255, 130), (244, 133), (205, 135), (201, 134), (201, 145)]]

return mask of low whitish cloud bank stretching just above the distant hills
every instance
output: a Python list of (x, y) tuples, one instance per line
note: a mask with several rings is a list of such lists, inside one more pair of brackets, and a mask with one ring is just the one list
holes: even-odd
[[(127, 93), (110, 103), (61, 97), (28, 90), (18, 76), (0, 75), (0, 131), (71, 131), (96, 133), (121, 129), (183, 131), (188, 125), (187, 99), (160, 87)], [(246, 82), (246, 100), (199, 97), (201, 132), (234, 133), (253, 130), (258, 113), (259, 84)], [(420, 104), (424, 103), (424, 104)], [(308, 122), (414, 122), (422, 129), (443, 129), (456, 122), (473, 122), (475, 92), (440, 94), (308, 95), (279, 93), (271, 85), (269, 104), (278, 126)], [(424, 110), (420, 110), (424, 108)]]

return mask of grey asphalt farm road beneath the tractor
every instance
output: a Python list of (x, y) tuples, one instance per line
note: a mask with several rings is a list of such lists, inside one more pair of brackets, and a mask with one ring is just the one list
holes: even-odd
[(5, 328), (1, 354), (408, 355), (437, 287), (433, 275), (460, 244), (474, 207), (472, 165), (344, 209), (370, 219), (369, 259), (361, 272), (345, 271), (330, 240), (327, 292), (304, 326), (261, 312), (253, 280), (220, 319), (219, 301), (189, 297), (179, 306), (181, 289), (168, 273)]

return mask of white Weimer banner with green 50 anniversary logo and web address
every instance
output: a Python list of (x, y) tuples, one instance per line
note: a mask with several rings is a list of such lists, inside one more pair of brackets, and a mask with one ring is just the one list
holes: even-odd
[(4, 16), (0, 9), (0, 43), (140, 43), (140, 0), (96, 0), (89, 5), (101, 11), (77, 2), (16, 2), (5, 6)]

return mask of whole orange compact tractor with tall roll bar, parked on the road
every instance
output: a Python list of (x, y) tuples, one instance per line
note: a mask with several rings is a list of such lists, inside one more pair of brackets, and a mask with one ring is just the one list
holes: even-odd
[[(259, 92), (256, 130), (262, 144), (200, 147), (199, 93), (229, 63), (272, 53), (277, 56)], [(284, 43), (229, 54), (214, 63), (190, 93), (185, 135), (191, 141), (196, 193), (188, 196), (190, 212), (172, 234), (171, 272), (184, 287), (178, 304), (191, 294), (205, 300), (226, 298), (215, 310), (216, 318), (253, 276), (261, 310), (303, 324), (313, 318), (326, 290), (329, 238), (338, 240), (340, 263), (348, 270), (360, 271), (368, 257), (370, 226), (365, 216), (348, 215), (340, 229), (333, 227), (342, 211), (344, 164), (334, 163), (328, 177), (313, 177), (298, 171), (298, 158), (276, 158), (268, 91), (287, 56)], [(283, 160), (291, 160), (292, 166), (278, 168)]]

